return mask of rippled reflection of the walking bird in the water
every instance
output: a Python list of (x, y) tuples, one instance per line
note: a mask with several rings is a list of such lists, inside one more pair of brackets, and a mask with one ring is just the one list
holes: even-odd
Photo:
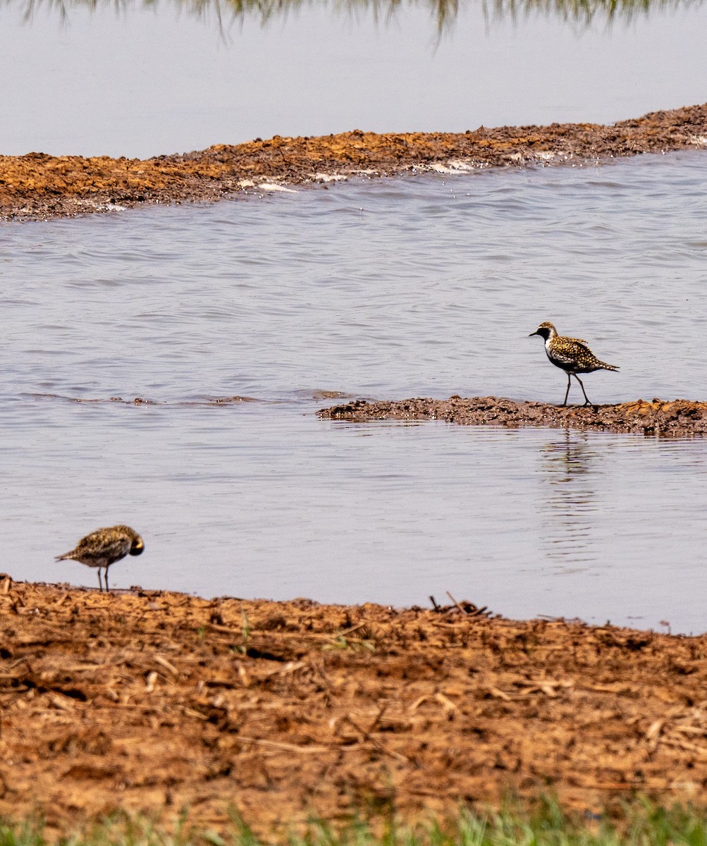
[(565, 429), (540, 455), (543, 552), (563, 573), (586, 570), (598, 558), (592, 544), (601, 508), (597, 464), (606, 452), (585, 432)]

